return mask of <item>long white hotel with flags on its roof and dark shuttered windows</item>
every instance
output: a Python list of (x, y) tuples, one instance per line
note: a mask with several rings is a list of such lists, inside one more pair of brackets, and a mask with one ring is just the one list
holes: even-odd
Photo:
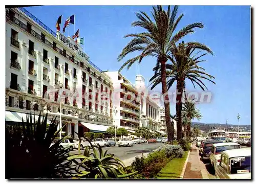
[[(55, 33), (24, 8), (6, 9), (6, 123), (26, 121), (31, 110), (59, 121), (60, 91), (69, 94), (61, 98), (63, 131), (76, 137), (74, 132), (82, 136), (113, 126), (111, 100), (101, 102), (99, 95), (113, 91), (111, 78), (72, 38)], [(98, 95), (89, 102), (83, 91)]]

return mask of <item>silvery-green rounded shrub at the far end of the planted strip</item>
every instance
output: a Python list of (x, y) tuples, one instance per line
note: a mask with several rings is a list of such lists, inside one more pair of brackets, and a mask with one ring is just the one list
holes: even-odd
[(180, 145), (163, 145), (157, 149), (157, 151), (164, 151), (166, 156), (172, 158), (181, 158), (184, 151)]

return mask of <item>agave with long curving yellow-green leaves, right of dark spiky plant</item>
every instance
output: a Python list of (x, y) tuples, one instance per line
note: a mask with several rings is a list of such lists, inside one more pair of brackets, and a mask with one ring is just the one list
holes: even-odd
[[(90, 153), (90, 149), (87, 147), (83, 154), (68, 157), (69, 160), (76, 163), (74, 168), (78, 174), (73, 174), (73, 178), (125, 178), (137, 173), (136, 171), (125, 174), (122, 171), (124, 165), (119, 158), (115, 157), (112, 153), (108, 153), (108, 150), (103, 151), (99, 144), (96, 146), (98, 149), (96, 150), (90, 140), (87, 137), (85, 138), (90, 143), (93, 152)], [(79, 147), (78, 145), (78, 148)], [(80, 162), (78, 162), (77, 159), (79, 159)]]

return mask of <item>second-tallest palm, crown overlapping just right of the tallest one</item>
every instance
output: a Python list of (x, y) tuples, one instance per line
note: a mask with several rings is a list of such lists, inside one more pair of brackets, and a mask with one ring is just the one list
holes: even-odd
[[(197, 56), (199, 52), (194, 54), (195, 51), (201, 50), (206, 51), (206, 53)], [(196, 88), (195, 84), (201, 87), (202, 90), (207, 89), (205, 84), (201, 79), (206, 79), (215, 84), (213, 76), (205, 73), (205, 69), (203, 67), (198, 66), (199, 62), (203, 62), (205, 60), (200, 60), (200, 58), (207, 53), (213, 55), (212, 51), (204, 44), (199, 42), (187, 42), (182, 41), (178, 44), (178, 47), (172, 48), (173, 57), (170, 57), (170, 64), (166, 64), (166, 77), (167, 81), (167, 89), (173, 85), (176, 81), (176, 116), (177, 116), (177, 139), (180, 140), (182, 138), (182, 95), (183, 88), (185, 88), (185, 79), (191, 81), (193, 86)], [(194, 55), (193, 55), (194, 54)], [(156, 72), (156, 75), (153, 76), (150, 81), (152, 82), (152, 88), (158, 85), (161, 82), (161, 70), (159, 66), (156, 66), (153, 69)]]

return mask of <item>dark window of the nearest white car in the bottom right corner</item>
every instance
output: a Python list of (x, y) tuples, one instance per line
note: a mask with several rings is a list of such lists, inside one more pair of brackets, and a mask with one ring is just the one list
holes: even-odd
[(251, 172), (251, 156), (230, 158), (230, 174)]

